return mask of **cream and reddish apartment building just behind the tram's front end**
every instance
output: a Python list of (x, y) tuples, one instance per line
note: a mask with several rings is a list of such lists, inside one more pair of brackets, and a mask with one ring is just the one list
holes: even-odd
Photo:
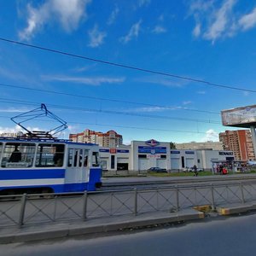
[(95, 143), (107, 148), (116, 148), (123, 144), (123, 137), (113, 130), (103, 133), (86, 129), (77, 134), (70, 134), (69, 139), (76, 143)]

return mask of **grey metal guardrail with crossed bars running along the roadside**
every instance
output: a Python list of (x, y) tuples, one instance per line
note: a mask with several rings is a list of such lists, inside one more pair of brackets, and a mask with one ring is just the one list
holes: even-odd
[(101, 192), (0, 196), (0, 227), (55, 223), (256, 200), (256, 182)]

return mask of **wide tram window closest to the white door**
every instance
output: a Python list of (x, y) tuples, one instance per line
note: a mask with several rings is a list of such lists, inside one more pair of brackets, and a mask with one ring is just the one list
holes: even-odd
[(65, 146), (63, 144), (38, 144), (36, 166), (63, 166), (64, 149)]

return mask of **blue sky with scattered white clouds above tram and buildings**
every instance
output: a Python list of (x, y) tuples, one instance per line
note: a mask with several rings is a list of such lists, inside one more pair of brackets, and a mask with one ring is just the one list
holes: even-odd
[(216, 142), (236, 130), (222, 110), (255, 104), (255, 67), (255, 1), (0, 0), (0, 133), (44, 103), (61, 138)]

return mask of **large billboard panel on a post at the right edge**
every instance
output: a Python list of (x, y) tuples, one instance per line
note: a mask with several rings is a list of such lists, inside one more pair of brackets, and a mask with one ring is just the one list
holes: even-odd
[(256, 105), (221, 111), (224, 126), (244, 127), (256, 125)]

